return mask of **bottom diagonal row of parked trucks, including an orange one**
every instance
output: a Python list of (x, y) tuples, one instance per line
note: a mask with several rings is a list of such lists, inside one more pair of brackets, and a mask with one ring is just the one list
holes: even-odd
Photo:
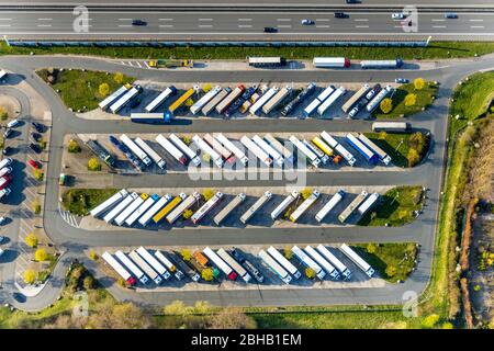
[[(330, 280), (348, 281), (351, 279), (351, 271), (347, 265), (323, 245), (318, 245), (315, 249), (311, 246), (306, 246), (304, 249), (293, 246), (291, 251), (299, 263), (303, 268), (312, 269), (319, 280), (325, 280), (327, 276)], [(369, 278), (373, 276), (372, 267), (349, 246), (343, 244), (339, 251)], [(302, 276), (295, 264), (272, 246), (267, 250), (260, 250), (258, 257), (285, 284)], [(231, 281), (242, 280), (245, 283), (254, 281), (262, 283), (265, 281), (265, 276), (256, 265), (235, 248), (228, 251), (220, 248), (214, 251), (210, 247), (205, 247), (202, 251), (194, 251), (188, 261), (180, 258), (177, 252), (165, 253), (160, 250), (151, 252), (144, 247), (128, 253), (117, 250), (111, 254), (105, 251), (102, 258), (130, 286), (137, 282), (147, 285), (150, 281), (160, 285), (172, 276), (181, 281), (186, 275), (192, 281), (199, 282), (205, 269), (212, 269), (215, 279), (223, 273)]]

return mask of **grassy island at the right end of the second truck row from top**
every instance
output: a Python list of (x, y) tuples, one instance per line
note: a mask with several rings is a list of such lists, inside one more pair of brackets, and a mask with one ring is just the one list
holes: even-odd
[[(418, 162), (427, 155), (428, 151), (428, 137), (420, 133), (424, 139), (426, 139), (426, 146), (418, 148)], [(409, 133), (363, 133), (369, 139), (371, 139), (375, 145), (378, 145), (384, 152), (386, 152), (394, 166), (397, 167), (409, 167), (408, 163), (408, 151), (411, 148), (416, 148), (414, 143), (414, 134)]]

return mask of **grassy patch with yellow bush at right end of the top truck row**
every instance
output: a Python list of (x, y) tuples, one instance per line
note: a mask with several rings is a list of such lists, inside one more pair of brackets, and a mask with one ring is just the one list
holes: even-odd
[[(415, 90), (413, 83), (403, 84), (396, 88), (393, 93), (393, 109), (390, 113), (382, 113), (381, 109), (378, 107), (372, 115), (377, 118), (397, 118), (401, 116), (409, 116), (417, 112), (420, 112), (422, 109), (427, 109), (434, 101), (434, 98), (437, 93), (438, 87), (434, 82), (426, 82), (425, 87), (420, 90)], [(405, 105), (405, 97), (407, 94), (415, 94), (416, 102), (412, 106)]]

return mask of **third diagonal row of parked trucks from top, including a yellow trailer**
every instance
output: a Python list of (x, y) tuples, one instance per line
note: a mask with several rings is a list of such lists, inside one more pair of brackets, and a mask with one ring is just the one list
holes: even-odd
[[(346, 196), (343, 189), (336, 192), (327, 203), (316, 213), (315, 219), (321, 223)], [(305, 200), (299, 204), (301, 195), (297, 191), (292, 191), (270, 214), (272, 220), (277, 220), (282, 214), (291, 208), (292, 204), (297, 206), (291, 212), (289, 219), (296, 223), (300, 217), (312, 207), (321, 197), (321, 193), (314, 190)], [(199, 210), (195, 210), (191, 216), (194, 224), (199, 224), (214, 207), (223, 201), (224, 194), (216, 192)], [(258, 213), (270, 200), (272, 193), (266, 191), (245, 213), (240, 216), (243, 224), (248, 224), (249, 219)], [(187, 210), (199, 204), (201, 195), (198, 192), (187, 195), (180, 193), (177, 196), (128, 192), (125, 189), (113, 194), (106, 201), (90, 211), (90, 215), (96, 218), (102, 218), (108, 224), (117, 226), (134, 226), (139, 224), (146, 227), (149, 223), (159, 224), (166, 219), (172, 225), (180, 218)], [(246, 194), (237, 194), (226, 206), (224, 206), (213, 218), (213, 222), (220, 226), (225, 218), (234, 212), (246, 200)], [(362, 191), (338, 216), (341, 223), (346, 223), (350, 215), (357, 210), (360, 216), (363, 216), (379, 201), (379, 194), (369, 195)]]

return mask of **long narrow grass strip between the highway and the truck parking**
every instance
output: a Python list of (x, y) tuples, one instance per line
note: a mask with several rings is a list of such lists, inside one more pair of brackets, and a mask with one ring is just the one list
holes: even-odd
[(428, 47), (13, 47), (0, 43), (0, 55), (76, 54), (115, 58), (245, 59), (246, 56), (284, 56), (312, 59), (314, 56), (346, 56), (350, 59), (437, 59), (472, 57), (494, 52), (494, 43), (436, 42)]

